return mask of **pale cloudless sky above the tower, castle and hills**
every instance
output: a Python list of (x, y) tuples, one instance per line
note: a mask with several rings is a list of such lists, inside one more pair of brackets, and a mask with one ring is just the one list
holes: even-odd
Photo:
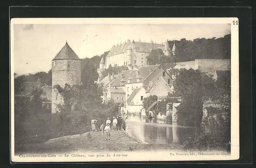
[(48, 72), (66, 41), (79, 58), (101, 55), (127, 39), (150, 43), (220, 38), (230, 24), (14, 24), (14, 72)]

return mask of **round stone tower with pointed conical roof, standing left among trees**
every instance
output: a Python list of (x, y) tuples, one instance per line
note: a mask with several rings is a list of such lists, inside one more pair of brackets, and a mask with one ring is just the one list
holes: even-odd
[(59, 112), (57, 105), (64, 102), (53, 87), (60, 85), (64, 88), (66, 83), (71, 86), (81, 84), (81, 59), (67, 43), (52, 60), (52, 113)]

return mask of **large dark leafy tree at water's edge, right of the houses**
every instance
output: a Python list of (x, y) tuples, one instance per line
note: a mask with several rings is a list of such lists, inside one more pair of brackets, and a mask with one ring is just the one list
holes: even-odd
[(213, 95), (214, 81), (199, 70), (180, 69), (173, 85), (173, 94), (182, 96), (177, 113), (178, 124), (194, 125), (196, 133), (199, 134), (203, 116), (203, 97)]

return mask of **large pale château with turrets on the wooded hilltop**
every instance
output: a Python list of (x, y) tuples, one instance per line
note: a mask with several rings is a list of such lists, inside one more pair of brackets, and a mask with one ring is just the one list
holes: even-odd
[(125, 65), (129, 69), (133, 67), (143, 67), (148, 65), (147, 57), (152, 49), (162, 49), (165, 56), (175, 56), (176, 47), (173, 44), (172, 49), (169, 47), (168, 40), (164, 44), (143, 43), (141, 40), (127, 40), (127, 42), (120, 45), (113, 45), (108, 52), (106, 58), (101, 58), (97, 72), (101, 78), (101, 72), (111, 66)]

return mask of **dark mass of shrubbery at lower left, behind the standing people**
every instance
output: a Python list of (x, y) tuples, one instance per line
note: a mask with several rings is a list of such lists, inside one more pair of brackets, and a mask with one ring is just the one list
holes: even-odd
[(16, 145), (41, 143), (65, 135), (82, 134), (91, 130), (90, 123), (93, 116), (98, 121), (96, 126), (99, 128), (108, 117), (115, 116), (117, 113), (115, 106), (100, 106), (83, 111), (51, 114), (51, 112), (46, 112), (47, 109), (44, 108), (34, 111), (32, 106), (28, 105), (31, 101), (27, 98), (18, 98), (16, 102), (24, 103), (23, 108), (15, 108), (14, 134)]

